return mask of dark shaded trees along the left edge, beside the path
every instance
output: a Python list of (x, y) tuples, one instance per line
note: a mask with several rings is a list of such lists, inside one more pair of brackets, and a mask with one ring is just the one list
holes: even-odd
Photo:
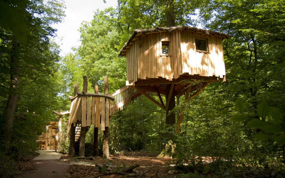
[(1, 0), (0, 8), (0, 177), (10, 177), (10, 163), (35, 154), (36, 134), (55, 119), (51, 111), (66, 106), (58, 97), (59, 47), (51, 39), (64, 5)]

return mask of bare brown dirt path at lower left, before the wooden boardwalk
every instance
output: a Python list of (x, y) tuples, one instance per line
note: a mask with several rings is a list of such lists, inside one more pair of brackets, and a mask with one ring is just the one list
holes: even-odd
[(34, 166), (16, 178), (64, 178), (69, 163), (64, 160), (34, 160)]

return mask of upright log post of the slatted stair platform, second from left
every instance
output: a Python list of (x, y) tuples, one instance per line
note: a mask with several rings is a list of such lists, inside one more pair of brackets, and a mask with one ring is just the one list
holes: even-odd
[[(88, 80), (87, 80), (87, 76), (83, 76), (83, 91), (85, 93), (87, 93), (87, 87), (88, 87)], [(86, 96), (85, 96), (86, 97)], [(82, 102), (84, 102), (82, 100)], [(86, 101), (85, 101), (86, 102)], [(86, 103), (85, 103), (86, 105)], [(86, 110), (86, 107), (84, 108)], [(82, 108), (82, 111), (84, 110)], [(84, 110), (84, 111), (85, 111)], [(82, 114), (85, 114), (85, 118), (86, 118), (86, 112), (82, 112)], [(86, 122), (86, 120), (83, 120), (82, 119), (82, 122)], [(83, 125), (85, 127), (83, 127)], [(86, 136), (86, 133), (88, 131), (88, 128), (86, 127), (86, 123), (85, 124), (81, 124), (81, 131), (80, 131), (80, 138), (79, 138), (79, 153), (78, 153), (78, 156), (85, 156), (85, 136)]]

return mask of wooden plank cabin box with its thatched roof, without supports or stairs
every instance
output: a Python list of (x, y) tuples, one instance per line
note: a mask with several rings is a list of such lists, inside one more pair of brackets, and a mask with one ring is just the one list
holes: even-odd
[(127, 59), (126, 86), (179, 77), (225, 81), (222, 40), (228, 37), (185, 26), (134, 30), (120, 51)]

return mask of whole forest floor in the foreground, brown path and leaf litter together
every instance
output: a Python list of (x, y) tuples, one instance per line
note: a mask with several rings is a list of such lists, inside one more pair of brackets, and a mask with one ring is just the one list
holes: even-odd
[[(169, 159), (156, 158), (156, 154), (143, 152), (128, 152), (124, 155), (111, 155), (109, 159), (93, 157), (89, 159), (77, 159), (63, 155), (61, 160), (34, 160), (33, 162), (23, 162), (15, 165), (15, 169), (22, 170), (23, 173), (16, 178), (30, 177), (61, 177), (61, 178), (80, 178), (80, 177), (125, 177), (119, 175), (128, 166), (139, 165), (134, 168), (137, 177), (174, 177), (171, 173)], [(97, 167), (108, 165), (105, 173), (118, 170), (113, 174), (101, 174), (101, 169)], [(104, 169), (104, 168), (103, 168)]]

